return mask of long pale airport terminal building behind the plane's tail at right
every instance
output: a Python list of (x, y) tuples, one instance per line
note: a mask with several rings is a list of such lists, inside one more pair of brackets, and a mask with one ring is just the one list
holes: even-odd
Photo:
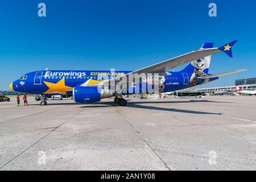
[(214, 92), (222, 92), (222, 91), (236, 92), (236, 85), (238, 85), (243, 90), (256, 90), (256, 77), (235, 80), (235, 85), (233, 85), (233, 86), (200, 88), (200, 89), (196, 89), (196, 90), (200, 91), (200, 92), (205, 92), (205, 93), (214, 93)]

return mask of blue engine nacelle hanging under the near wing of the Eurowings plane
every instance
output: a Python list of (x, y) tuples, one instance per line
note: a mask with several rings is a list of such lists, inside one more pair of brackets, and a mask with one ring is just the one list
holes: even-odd
[(73, 88), (73, 97), (75, 102), (92, 103), (98, 102), (101, 98), (112, 97), (113, 93), (107, 92), (97, 86), (76, 86)]

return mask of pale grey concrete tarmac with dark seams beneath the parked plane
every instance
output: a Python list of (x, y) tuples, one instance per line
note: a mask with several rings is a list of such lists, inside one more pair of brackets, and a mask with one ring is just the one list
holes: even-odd
[(255, 170), (256, 96), (0, 102), (0, 170)]

